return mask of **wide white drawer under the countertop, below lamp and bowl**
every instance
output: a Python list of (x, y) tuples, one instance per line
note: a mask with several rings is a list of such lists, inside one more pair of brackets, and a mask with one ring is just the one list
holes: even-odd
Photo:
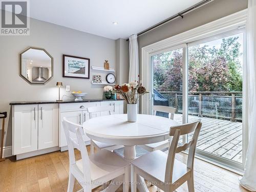
[(97, 106), (97, 103), (100, 104), (100, 102), (61, 103), (60, 112), (84, 111), (90, 106)]

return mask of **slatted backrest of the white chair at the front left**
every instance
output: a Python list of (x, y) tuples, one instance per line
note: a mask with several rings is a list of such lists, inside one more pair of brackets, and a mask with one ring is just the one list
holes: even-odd
[[(62, 124), (68, 142), (70, 166), (76, 164), (74, 149), (77, 148), (82, 157), (84, 179), (87, 182), (91, 182), (90, 159), (82, 138), (85, 135), (82, 125), (68, 121), (66, 118), (63, 118)], [(75, 138), (71, 137), (71, 133), (74, 133), (72, 136), (75, 135)]]

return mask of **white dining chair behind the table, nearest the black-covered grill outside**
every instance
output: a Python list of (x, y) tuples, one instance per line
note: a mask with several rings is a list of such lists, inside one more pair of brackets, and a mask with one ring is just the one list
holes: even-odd
[[(156, 115), (156, 112), (168, 113), (169, 118), (174, 119), (174, 114), (176, 113), (176, 108), (172, 108), (171, 106), (154, 105), (153, 106), (154, 115)], [(140, 147), (144, 148), (144, 150), (146, 150), (148, 152), (153, 152), (156, 150), (164, 150), (165, 148), (168, 148), (169, 145), (170, 145), (170, 138), (165, 141), (160, 141), (157, 143), (140, 145)]]

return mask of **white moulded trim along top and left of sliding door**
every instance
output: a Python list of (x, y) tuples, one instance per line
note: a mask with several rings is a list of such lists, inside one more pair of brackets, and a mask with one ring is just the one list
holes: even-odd
[[(145, 94), (141, 98), (142, 114), (151, 114), (152, 103), (152, 80), (151, 80), (151, 54), (163, 51), (181, 44), (193, 42), (206, 37), (221, 34), (230, 30), (237, 29), (246, 25), (247, 9), (237, 13), (228, 15), (226, 17), (215, 20), (214, 22), (205, 24), (203, 26), (191, 29), (189, 31), (180, 33), (178, 35), (166, 38), (164, 40), (155, 42), (154, 44), (145, 46), (141, 50), (141, 82), (146, 90), (150, 90), (150, 94)], [(150, 101), (150, 102), (148, 102)]]

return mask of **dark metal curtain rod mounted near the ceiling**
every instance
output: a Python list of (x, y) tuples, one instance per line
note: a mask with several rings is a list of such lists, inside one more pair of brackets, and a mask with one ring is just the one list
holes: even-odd
[[(190, 11), (193, 11), (194, 9), (197, 9), (197, 8), (203, 6), (203, 5), (205, 5), (205, 4), (207, 4), (207, 3), (211, 2), (211, 1), (214, 1), (214, 0), (204, 0), (202, 2), (199, 2), (198, 4), (196, 4), (196, 5), (192, 6), (192, 7), (189, 7), (188, 9), (185, 9), (184, 11), (181, 11), (181, 12), (177, 13), (176, 15), (174, 15), (172, 17), (169, 17), (169, 18), (163, 20), (162, 22), (160, 22), (160, 23), (158, 23), (158, 24), (156, 24), (156, 25), (154, 25), (152, 27), (145, 29), (144, 31), (139, 32), (138, 36), (140, 36), (140, 35), (142, 35), (144, 33), (147, 33), (148, 31), (151, 31), (153, 29), (156, 29), (157, 27), (159, 27), (159, 26), (161, 26), (163, 24), (166, 24), (166, 23), (170, 22), (171, 20), (173, 20), (173, 19), (175, 19), (177, 17), (183, 18), (184, 14), (186, 14), (186, 13), (188, 13)], [(126, 39), (126, 40), (128, 41), (129, 38)]]

